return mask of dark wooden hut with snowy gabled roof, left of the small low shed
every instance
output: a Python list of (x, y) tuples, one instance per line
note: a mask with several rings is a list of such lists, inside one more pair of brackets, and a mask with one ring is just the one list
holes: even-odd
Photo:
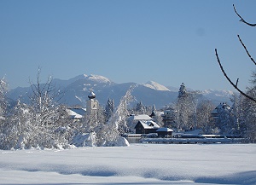
[(152, 120), (139, 120), (135, 126), (136, 134), (155, 133), (159, 128), (160, 126)]

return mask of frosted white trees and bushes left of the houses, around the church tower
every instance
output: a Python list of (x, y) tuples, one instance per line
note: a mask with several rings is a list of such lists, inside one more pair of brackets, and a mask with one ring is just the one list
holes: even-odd
[[(125, 131), (131, 90), (123, 96), (119, 107), (114, 109), (113, 100), (108, 100), (105, 108), (98, 108), (97, 115), (86, 114), (84, 119), (74, 121), (67, 113), (67, 105), (59, 103), (61, 91), (55, 90), (50, 77), (41, 84), (38, 70), (37, 82), (31, 82), (31, 88), (29, 104), (18, 100), (15, 106), (10, 106), (8, 84), (5, 78), (0, 80), (0, 149), (119, 144), (120, 133)], [(84, 141), (78, 143), (78, 139)]]

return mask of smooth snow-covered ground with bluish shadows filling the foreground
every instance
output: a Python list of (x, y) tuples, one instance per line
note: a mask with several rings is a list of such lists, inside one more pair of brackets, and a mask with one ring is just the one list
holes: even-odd
[(256, 184), (255, 144), (0, 150), (0, 184)]

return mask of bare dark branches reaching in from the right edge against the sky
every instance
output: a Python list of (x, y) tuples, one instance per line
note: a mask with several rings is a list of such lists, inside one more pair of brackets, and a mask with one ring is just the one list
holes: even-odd
[[(256, 24), (252, 24), (252, 23), (249, 23), (247, 22), (246, 20), (244, 20), (240, 14), (237, 13), (236, 11), (236, 7), (235, 5), (233, 4), (233, 8), (234, 8), (234, 11), (236, 12), (237, 16), (241, 19), (240, 21), (247, 24), (248, 26), (256, 26)], [(239, 35), (237, 35), (242, 47), (245, 49), (245, 51), (247, 52), (247, 55), (248, 57), (250, 58), (251, 61), (253, 61), (253, 64), (256, 65), (256, 62), (253, 60), (253, 57), (250, 55), (249, 51), (247, 50), (247, 47), (246, 45), (242, 42), (241, 38)], [(227, 73), (224, 71), (224, 67), (222, 66), (221, 64), (221, 61), (218, 57), (218, 52), (217, 52), (217, 49), (215, 49), (215, 55), (217, 57), (217, 61), (218, 61), (218, 65), (220, 66), (220, 69), (221, 71), (224, 73), (224, 77), (230, 82), (230, 84), (238, 91), (241, 93), (241, 95), (244, 95), (246, 96), (249, 100), (251, 101), (254, 101), (256, 102), (256, 99), (252, 96), (252, 95), (248, 95), (247, 93), (243, 92), (239, 87), (238, 87), (238, 81), (239, 81), (239, 78), (236, 79), (236, 83), (234, 83), (230, 78), (229, 76), (227, 75)]]

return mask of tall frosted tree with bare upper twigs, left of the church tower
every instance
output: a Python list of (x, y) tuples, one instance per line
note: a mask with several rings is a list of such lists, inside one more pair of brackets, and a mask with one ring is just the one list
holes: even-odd
[(55, 98), (60, 95), (60, 90), (55, 90), (50, 77), (45, 84), (40, 83), (40, 69), (38, 69), (37, 84), (31, 84), (31, 88), (29, 112), (33, 127), (32, 147), (66, 145), (67, 141), (63, 134), (65, 134), (64, 128), (67, 129), (68, 116), (66, 109), (55, 101)]

